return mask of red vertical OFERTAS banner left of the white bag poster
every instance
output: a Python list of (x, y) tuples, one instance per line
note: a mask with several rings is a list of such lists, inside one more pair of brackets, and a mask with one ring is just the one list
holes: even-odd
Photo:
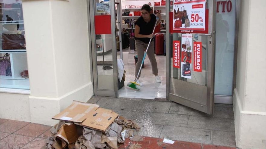
[(173, 41), (173, 66), (174, 68), (180, 68), (180, 41)]

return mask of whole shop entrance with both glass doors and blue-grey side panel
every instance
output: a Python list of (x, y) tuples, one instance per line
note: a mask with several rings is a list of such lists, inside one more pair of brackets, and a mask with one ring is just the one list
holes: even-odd
[[(160, 34), (162, 34), (163, 38), (163, 52), (162, 54), (157, 54), (154, 49), (158, 64), (158, 75), (161, 77), (162, 82), (156, 83), (155, 76), (152, 74), (149, 58), (146, 57), (140, 77), (140, 81), (144, 86), (137, 91), (128, 88), (126, 84), (129, 81), (135, 80), (135, 62), (138, 61), (138, 59), (133, 37), (135, 31), (134, 23), (135, 20), (140, 17), (138, 12), (141, 10), (141, 5), (143, 5), (140, 2), (143, 2), (143, 4), (151, 3), (153, 12), (155, 14), (161, 13), (162, 15), (163, 21), (161, 22)], [(225, 9), (225, 12), (223, 6), (219, 5), (219, 1), (191, 1), (191, 3), (195, 3), (192, 4), (196, 5), (195, 7), (202, 7), (202, 5), (198, 4), (200, 2), (205, 5), (204, 13), (206, 14), (206, 12), (208, 12), (205, 16), (206, 20), (207, 18), (211, 20), (207, 22), (209, 26), (207, 26), (206, 29), (208, 30), (205, 33), (198, 33), (197, 31), (188, 32), (186, 26), (184, 26), (186, 25), (186, 19), (190, 20), (190, 23), (192, 23), (193, 19), (193, 21), (201, 21), (202, 16), (200, 16), (200, 14), (194, 14), (192, 18), (192, 14), (187, 12), (188, 15), (187, 18), (184, 18), (184, 22), (182, 22), (182, 18), (173, 19), (174, 10), (176, 12), (178, 9), (189, 11), (186, 6), (187, 4), (184, 5), (184, 7), (183, 5), (180, 5), (181, 8), (179, 8), (171, 1), (166, 1), (166, 5), (157, 5), (157, 2), (155, 3), (155, 1), (89, 1), (90, 5), (93, 6), (90, 7), (90, 24), (94, 27), (91, 27), (91, 47), (94, 49), (92, 50), (94, 95), (146, 99), (165, 98), (194, 109), (204, 109), (201, 111), (206, 113), (211, 113), (212, 110), (209, 107), (212, 106), (215, 101), (216, 103), (232, 104), (232, 92), (230, 92), (230, 90), (233, 88), (234, 81), (234, 39), (236, 40), (234, 34), (234, 16), (237, 8), (236, 2), (228, 2), (230, 7), (228, 7), (228, 10)], [(97, 9), (101, 8), (101, 5), (109, 6), (110, 10), (101, 10), (97, 12)], [(99, 16), (108, 16), (108, 18), (102, 18), (99, 21)], [(177, 20), (180, 20), (181, 26), (185, 27), (182, 32), (172, 31), (173, 26), (176, 25), (174, 23), (178, 22)], [(212, 25), (214, 23), (212, 20), (216, 20), (216, 25), (220, 26), (216, 32), (214, 32), (215, 26)], [(217, 24), (217, 22), (219, 23)], [(169, 25), (168, 29), (166, 24)], [(110, 30), (109, 32), (106, 32), (108, 31), (108, 28)], [(227, 42), (225, 44), (217, 44), (214, 40), (216, 37), (219, 39), (218, 43), (226, 41), (221, 40), (221, 38), (225, 39), (221, 34), (227, 34), (225, 35), (227, 36)], [(182, 38), (182, 36), (187, 37)], [(231, 40), (228, 42), (228, 39)], [(177, 58), (173, 57), (174, 44), (177, 44), (178, 41), (180, 42), (180, 68), (174, 67), (173, 62), (175, 60), (174, 58)], [(186, 45), (186, 42), (190, 42), (190, 45), (188, 44), (188, 46), (190, 46), (191, 49), (188, 50), (186, 48), (184, 51), (183, 44)], [(201, 58), (201, 63), (195, 63), (194, 66), (194, 62), (197, 61), (197, 57), (194, 61), (195, 53), (193, 52), (194, 49), (196, 49), (194, 44), (199, 42), (201, 55), (196, 56)], [(226, 45), (226, 47), (221, 45)], [(213, 55), (215, 48), (216, 55)], [(190, 55), (190, 65), (186, 63), (184, 64), (184, 61), (187, 61), (189, 57), (189, 55), (184, 55), (184, 52)], [(185, 57), (187, 57), (187, 59)], [(214, 62), (214, 57), (216, 57), (216, 64)], [(224, 61), (225, 59), (226, 61)], [(213, 64), (215, 64), (215, 69)], [(110, 66), (112, 69), (105, 70), (103, 69), (103, 65)], [(194, 69), (196, 69), (196, 67), (201, 68), (200, 70), (195, 71)], [(183, 70), (185, 69), (189, 69), (190, 73), (188, 71), (188, 74), (183, 74)], [(225, 69), (226, 71), (222, 71)], [(123, 73), (124, 70), (125, 73)], [(215, 76), (218, 76), (215, 77), (215, 80), (214, 71)], [(227, 75), (225, 75), (225, 73)], [(227, 79), (222, 79), (223, 77)], [(216, 86), (216, 90), (214, 90), (214, 85)]]

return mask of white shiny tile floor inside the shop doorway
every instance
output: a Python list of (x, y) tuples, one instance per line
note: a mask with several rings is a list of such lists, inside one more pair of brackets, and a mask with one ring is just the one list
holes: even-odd
[(151, 63), (147, 56), (144, 61), (144, 68), (141, 70), (141, 77), (139, 78), (144, 86), (142, 86), (140, 90), (135, 90), (126, 86), (128, 82), (135, 80), (134, 55), (136, 54), (137, 53), (132, 50), (128, 54), (128, 64), (125, 64), (125, 86), (119, 89), (119, 97), (143, 99), (166, 98), (166, 57), (163, 55), (155, 55), (158, 75), (161, 76), (162, 80), (161, 83), (155, 81), (155, 76), (152, 74), (151, 70)]

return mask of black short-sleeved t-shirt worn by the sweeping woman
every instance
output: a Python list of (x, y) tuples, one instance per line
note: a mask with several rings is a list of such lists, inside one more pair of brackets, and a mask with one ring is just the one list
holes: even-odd
[[(154, 25), (156, 22), (156, 17), (154, 14), (151, 14), (151, 20), (150, 22), (145, 22), (143, 17), (139, 17), (138, 20), (135, 22), (136, 25), (138, 25), (140, 27), (140, 31), (139, 33), (142, 35), (150, 35), (152, 34)], [(145, 43), (149, 43), (150, 42), (150, 38), (137, 38), (135, 37), (136, 40), (140, 40), (142, 42)], [(153, 40), (153, 39), (152, 39)]]

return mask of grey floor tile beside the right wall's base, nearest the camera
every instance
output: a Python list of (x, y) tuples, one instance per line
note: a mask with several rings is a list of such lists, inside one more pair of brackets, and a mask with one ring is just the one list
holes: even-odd
[(212, 143), (215, 145), (236, 147), (235, 132), (212, 131)]

